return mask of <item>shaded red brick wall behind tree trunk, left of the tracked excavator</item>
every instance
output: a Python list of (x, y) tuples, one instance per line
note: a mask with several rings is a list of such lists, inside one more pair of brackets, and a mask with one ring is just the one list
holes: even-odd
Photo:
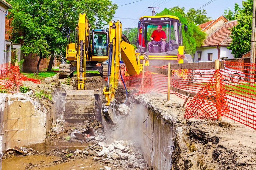
[[(23, 71), (24, 72), (32, 72), (36, 71), (37, 62), (39, 61), (39, 57), (36, 54), (29, 54), (28, 56), (24, 56), (23, 63)], [(49, 59), (42, 59), (39, 65), (39, 69), (45, 69), (49, 65)]]

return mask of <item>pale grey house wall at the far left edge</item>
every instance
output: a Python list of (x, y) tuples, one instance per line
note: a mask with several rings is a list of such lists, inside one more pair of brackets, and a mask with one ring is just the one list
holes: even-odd
[(5, 25), (5, 12), (6, 8), (0, 3), (0, 64), (4, 64), (4, 25)]

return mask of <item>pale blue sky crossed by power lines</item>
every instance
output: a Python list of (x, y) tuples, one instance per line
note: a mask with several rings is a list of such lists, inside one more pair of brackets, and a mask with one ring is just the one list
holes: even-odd
[[(112, 1), (113, 3), (120, 6), (139, 0)], [(213, 19), (216, 19), (219, 16), (223, 15), (224, 10), (227, 8), (234, 10), (235, 3), (238, 3), (239, 7), (242, 7), (242, 0), (142, 0), (139, 2), (118, 7), (114, 15), (114, 20), (120, 20), (123, 28), (134, 28), (138, 25), (138, 19), (141, 16), (152, 15), (152, 10), (148, 7), (159, 7), (159, 9), (156, 9), (156, 12), (161, 12), (164, 8), (168, 9), (175, 6), (185, 7), (185, 11), (187, 11), (190, 8), (198, 9), (209, 1), (212, 2), (207, 6), (203, 7), (202, 9), (206, 10), (207, 17), (212, 17)]]

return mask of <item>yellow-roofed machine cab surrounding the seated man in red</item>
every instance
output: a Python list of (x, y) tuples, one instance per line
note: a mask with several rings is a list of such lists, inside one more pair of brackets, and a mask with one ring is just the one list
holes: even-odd
[[(184, 54), (184, 47), (182, 46), (182, 24), (178, 17), (171, 15), (143, 16), (139, 20), (137, 52), (144, 52), (149, 56), (150, 66), (164, 66), (168, 62), (183, 63), (179, 57)], [(165, 32), (166, 41), (157, 44), (155, 42), (149, 43), (153, 31), (157, 30), (159, 25), (162, 27), (161, 30)]]

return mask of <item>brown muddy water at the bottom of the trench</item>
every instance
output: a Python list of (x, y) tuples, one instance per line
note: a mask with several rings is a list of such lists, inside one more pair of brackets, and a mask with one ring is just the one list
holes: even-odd
[(104, 168), (106, 164), (102, 164), (97, 161), (93, 161), (91, 158), (81, 158), (70, 160), (66, 163), (56, 164), (54, 161), (61, 160), (56, 156), (43, 156), (43, 155), (27, 155), (23, 157), (13, 156), (12, 158), (5, 159), (2, 162), (3, 170), (22, 170), (22, 169), (40, 169), (40, 170), (80, 170), (88, 169), (95, 170)]

